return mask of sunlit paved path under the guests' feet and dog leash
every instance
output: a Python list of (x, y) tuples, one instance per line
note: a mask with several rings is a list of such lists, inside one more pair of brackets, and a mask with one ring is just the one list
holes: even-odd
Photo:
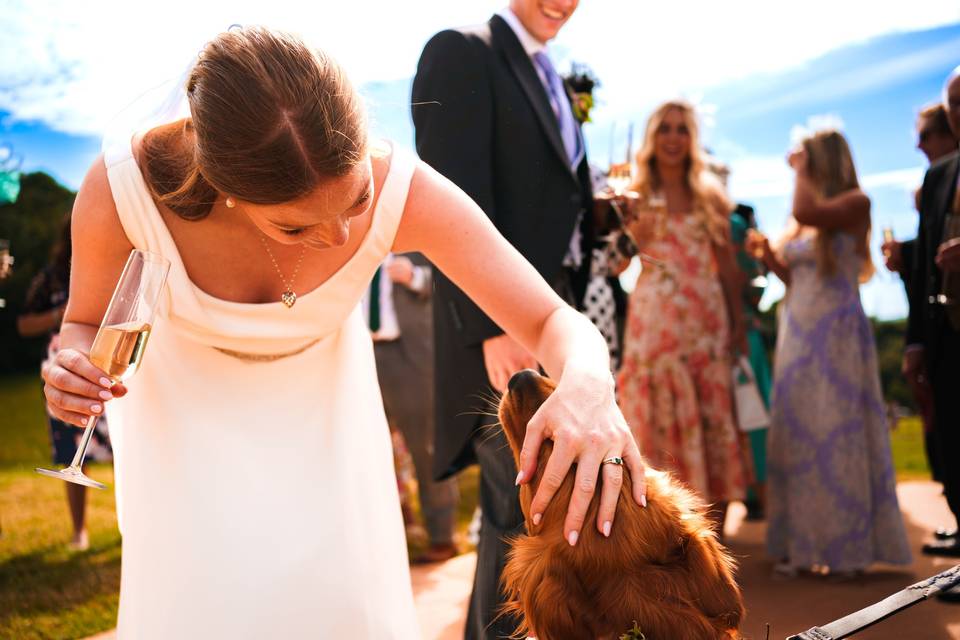
[[(924, 536), (949, 522), (950, 514), (940, 496), (939, 485), (906, 482), (898, 485), (897, 493), (915, 551), (913, 565), (876, 568), (862, 578), (839, 583), (813, 577), (772, 579), (772, 565), (763, 547), (765, 525), (745, 522), (743, 508), (731, 507), (726, 533), (730, 548), (740, 562), (738, 580), (748, 609), (743, 626), (745, 640), (764, 640), (766, 623), (771, 627), (771, 640), (783, 640), (882, 600), (956, 564), (920, 554)], [(471, 553), (439, 565), (413, 568), (413, 590), (425, 640), (463, 638), (463, 620), (475, 563), (476, 556)], [(96, 636), (95, 640), (114, 640), (114, 637), (110, 632)], [(960, 640), (960, 605), (922, 602), (856, 638)]]

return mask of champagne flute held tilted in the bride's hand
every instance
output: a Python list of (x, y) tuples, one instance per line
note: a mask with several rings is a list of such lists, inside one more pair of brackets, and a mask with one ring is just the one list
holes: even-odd
[[(167, 279), (170, 262), (155, 253), (133, 250), (117, 282), (107, 313), (90, 348), (90, 362), (114, 382), (130, 378), (143, 360), (153, 317)], [(87, 420), (77, 453), (69, 467), (59, 471), (37, 468), (37, 473), (67, 482), (104, 489), (105, 486), (84, 475), (83, 459), (97, 426), (97, 416)]]

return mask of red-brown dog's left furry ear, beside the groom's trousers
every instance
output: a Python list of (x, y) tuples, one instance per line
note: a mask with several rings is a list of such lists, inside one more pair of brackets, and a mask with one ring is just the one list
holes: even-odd
[(503, 572), (507, 610), (523, 617), (518, 637), (537, 640), (595, 638), (593, 605), (563, 558), (530, 538), (520, 538)]

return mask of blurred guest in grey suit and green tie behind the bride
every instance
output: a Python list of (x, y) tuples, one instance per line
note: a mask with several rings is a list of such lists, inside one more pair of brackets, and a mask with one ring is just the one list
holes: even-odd
[[(433, 480), (433, 276), (423, 256), (412, 258), (417, 264), (407, 256), (388, 255), (364, 306), (387, 420), (403, 436), (416, 470), (430, 541), (427, 550), (413, 558), (422, 564), (457, 554), (453, 528), (458, 494), (455, 479)], [(404, 510), (404, 520), (410, 517)]]

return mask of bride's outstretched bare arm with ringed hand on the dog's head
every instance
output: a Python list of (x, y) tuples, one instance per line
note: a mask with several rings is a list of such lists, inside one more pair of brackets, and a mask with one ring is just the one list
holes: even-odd
[[(522, 482), (536, 470), (543, 439), (554, 441), (531, 503), (535, 521), (574, 462), (578, 490), (564, 526), (571, 543), (583, 525), (603, 459), (624, 458), (634, 479), (634, 498), (645, 502), (643, 464), (616, 405), (606, 342), (589, 320), (553, 292), (472, 200), (425, 164), (413, 177), (394, 251), (425, 254), (559, 381), (528, 425), (520, 455)], [(622, 477), (616, 465), (604, 465), (603, 473), (596, 525), (606, 533)]]

